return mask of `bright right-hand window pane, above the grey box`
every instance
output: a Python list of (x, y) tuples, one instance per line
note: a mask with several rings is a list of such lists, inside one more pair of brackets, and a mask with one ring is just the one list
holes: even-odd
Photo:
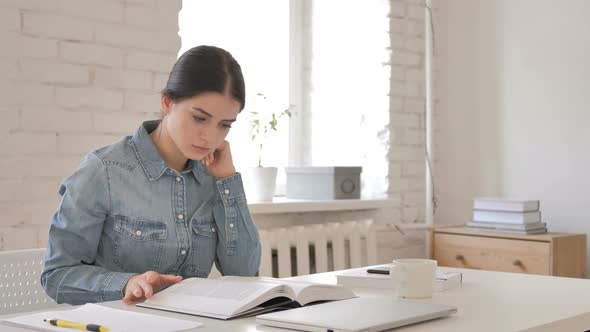
[(363, 193), (383, 194), (389, 1), (321, 0), (311, 11), (311, 163), (362, 166)]

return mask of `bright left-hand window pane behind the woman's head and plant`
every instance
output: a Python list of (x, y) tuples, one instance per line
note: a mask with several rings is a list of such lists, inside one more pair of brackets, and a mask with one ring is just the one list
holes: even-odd
[[(179, 17), (180, 54), (198, 45), (221, 47), (238, 60), (246, 81), (246, 107), (232, 125), (228, 141), (236, 168), (258, 163), (249, 139), (250, 111), (289, 106), (289, 2), (277, 0), (185, 0)], [(261, 105), (257, 93), (267, 97)], [(288, 121), (266, 144), (264, 166), (288, 164)]]

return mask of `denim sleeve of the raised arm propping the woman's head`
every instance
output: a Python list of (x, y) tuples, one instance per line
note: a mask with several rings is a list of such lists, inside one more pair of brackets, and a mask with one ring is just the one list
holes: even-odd
[(217, 180), (220, 199), (213, 215), (219, 230), (215, 264), (223, 275), (254, 276), (260, 267), (260, 238), (252, 221), (242, 177)]

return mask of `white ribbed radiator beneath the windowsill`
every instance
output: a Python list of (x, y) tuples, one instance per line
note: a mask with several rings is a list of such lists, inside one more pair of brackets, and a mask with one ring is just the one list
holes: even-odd
[(260, 230), (258, 274), (291, 277), (377, 263), (372, 220)]

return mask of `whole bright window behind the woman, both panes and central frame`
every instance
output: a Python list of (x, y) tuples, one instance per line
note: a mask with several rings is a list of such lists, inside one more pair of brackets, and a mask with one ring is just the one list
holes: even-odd
[(228, 138), (236, 167), (256, 165), (248, 112), (262, 92), (295, 112), (265, 146), (265, 166), (363, 166), (363, 193), (385, 193), (388, 13), (387, 0), (184, 1), (181, 53), (210, 44), (242, 65), (246, 108)]

